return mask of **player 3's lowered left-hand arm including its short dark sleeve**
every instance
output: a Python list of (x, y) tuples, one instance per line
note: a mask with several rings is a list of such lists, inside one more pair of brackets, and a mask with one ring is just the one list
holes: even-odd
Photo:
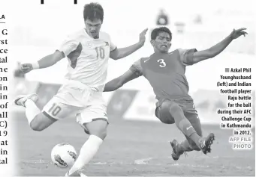
[(123, 75), (119, 76), (118, 78), (114, 78), (112, 81), (107, 82), (107, 84), (105, 84), (104, 92), (117, 90), (128, 81), (131, 81), (134, 78), (138, 78), (141, 75), (143, 75), (143, 73), (140, 66), (140, 60), (137, 60)]

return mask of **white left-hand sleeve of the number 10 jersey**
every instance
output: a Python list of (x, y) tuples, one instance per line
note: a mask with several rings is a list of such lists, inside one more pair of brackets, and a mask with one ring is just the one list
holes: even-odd
[(65, 54), (65, 57), (67, 57), (71, 52), (77, 49), (78, 45), (79, 45), (79, 42), (77, 40), (74, 40), (71, 37), (68, 37), (68, 39), (62, 43), (62, 45), (59, 47), (58, 50), (60, 52), (63, 52)]

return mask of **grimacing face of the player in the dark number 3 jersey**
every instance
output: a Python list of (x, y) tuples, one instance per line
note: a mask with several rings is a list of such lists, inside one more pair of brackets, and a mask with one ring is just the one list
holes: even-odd
[(155, 52), (167, 53), (170, 49), (170, 35), (166, 32), (160, 32), (155, 40), (151, 41)]

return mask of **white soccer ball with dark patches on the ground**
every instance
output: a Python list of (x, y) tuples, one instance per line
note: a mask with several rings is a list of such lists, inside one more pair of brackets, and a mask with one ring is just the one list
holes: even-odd
[(77, 152), (74, 146), (68, 143), (59, 143), (53, 147), (51, 158), (57, 167), (71, 167), (77, 159)]

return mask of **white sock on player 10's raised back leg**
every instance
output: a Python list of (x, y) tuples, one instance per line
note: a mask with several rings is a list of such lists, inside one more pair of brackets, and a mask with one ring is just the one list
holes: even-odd
[(38, 106), (35, 105), (35, 102), (33, 102), (32, 99), (28, 99), (25, 102), (25, 106), (26, 106), (26, 117), (30, 125), (30, 122), (32, 122), (32, 119), (34, 119), (38, 114), (40, 114), (41, 111), (38, 108)]

